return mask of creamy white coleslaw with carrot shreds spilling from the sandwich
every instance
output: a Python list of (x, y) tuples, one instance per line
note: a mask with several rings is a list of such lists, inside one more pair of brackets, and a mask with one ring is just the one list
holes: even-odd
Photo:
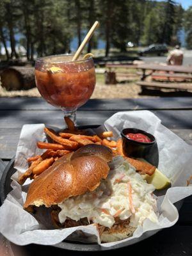
[(152, 194), (154, 189), (131, 164), (121, 161), (119, 165), (113, 166), (107, 179), (102, 180), (95, 191), (68, 198), (58, 204), (61, 208), (60, 223), (64, 223), (67, 217), (76, 221), (88, 218), (88, 221), (111, 228), (116, 213), (119, 213), (120, 220), (130, 218), (132, 227), (142, 225), (146, 218), (157, 223), (156, 199)]

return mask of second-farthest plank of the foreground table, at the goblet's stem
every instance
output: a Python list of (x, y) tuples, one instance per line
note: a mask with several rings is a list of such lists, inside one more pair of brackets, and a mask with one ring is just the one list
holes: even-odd
[[(105, 120), (116, 113), (116, 110), (78, 111), (77, 123), (79, 125), (102, 124)], [(154, 110), (152, 111), (162, 121), (162, 124), (169, 129), (191, 129), (192, 111), (189, 109), (180, 110)], [(3, 111), (1, 112), (0, 129), (21, 128), (24, 124), (55, 125), (63, 127), (63, 113), (59, 111)]]

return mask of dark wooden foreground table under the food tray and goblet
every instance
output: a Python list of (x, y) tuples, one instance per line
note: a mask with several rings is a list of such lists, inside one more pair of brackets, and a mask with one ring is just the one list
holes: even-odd
[[(148, 109), (161, 118), (162, 123), (192, 145), (192, 101), (191, 98), (156, 98), (156, 99), (92, 99), (77, 111), (79, 125), (103, 124), (111, 115), (118, 111), (131, 111)], [(13, 156), (19, 140), (20, 129), (24, 124), (45, 123), (63, 127), (63, 113), (61, 110), (47, 104), (38, 98), (1, 98), (0, 99), (0, 170)], [(148, 256), (155, 255), (191, 255), (192, 244), (192, 198), (186, 198), (180, 209), (177, 224), (166, 228), (156, 235), (134, 244), (121, 248), (119, 253), (137, 255), (142, 248)], [(4, 243), (4, 242), (3, 242)], [(139, 245), (139, 246), (138, 246)], [(70, 252), (51, 246), (30, 244), (28, 246), (15, 246), (6, 241), (8, 250), (13, 253), (22, 250), (22, 255), (84, 255), (82, 252)], [(88, 252), (87, 252), (88, 253)], [(89, 253), (88, 253), (89, 254)], [(91, 253), (92, 255), (93, 253)], [(6, 254), (8, 255), (8, 254)], [(10, 254), (12, 255), (12, 254)], [(99, 252), (106, 255), (106, 252)]]

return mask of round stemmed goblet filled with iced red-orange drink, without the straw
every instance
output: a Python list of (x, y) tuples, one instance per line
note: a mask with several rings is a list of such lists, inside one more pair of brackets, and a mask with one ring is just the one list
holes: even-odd
[(76, 110), (90, 99), (95, 88), (93, 59), (72, 61), (72, 54), (38, 58), (35, 81), (44, 99), (61, 108), (76, 124)]

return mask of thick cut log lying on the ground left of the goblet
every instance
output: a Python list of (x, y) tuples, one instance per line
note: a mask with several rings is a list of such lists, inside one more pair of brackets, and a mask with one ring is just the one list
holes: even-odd
[(1, 72), (1, 86), (7, 91), (29, 90), (35, 87), (33, 67), (8, 67)]

